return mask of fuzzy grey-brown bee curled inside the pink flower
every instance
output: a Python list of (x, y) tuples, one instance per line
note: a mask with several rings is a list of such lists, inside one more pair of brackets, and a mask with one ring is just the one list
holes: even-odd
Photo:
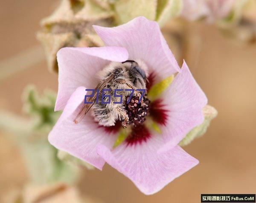
[[(122, 121), (122, 126), (126, 127), (129, 116), (125, 105), (131, 92), (125, 90), (133, 89), (135, 96), (141, 96), (137, 89), (146, 90), (146, 74), (147, 67), (140, 60), (137, 60), (137, 62), (133, 60), (119, 63), (111, 62), (110, 65), (99, 72), (100, 82), (94, 89), (94, 95), (88, 99), (91, 104), (84, 104), (74, 122), (77, 124), (81, 121), (92, 108), (94, 120), (99, 125), (108, 127), (115, 125), (116, 121)], [(104, 96), (111, 96), (110, 102), (107, 102), (107, 104), (96, 103), (96, 99), (102, 101), (102, 90), (104, 89), (106, 90)], [(96, 90), (99, 91), (98, 98), (95, 93)], [(114, 95), (115, 90), (120, 90), (117, 95), (122, 95), (122, 101), (120, 101), (121, 97)], [(106, 100), (108, 101), (108, 98), (104, 97), (103, 101)], [(143, 105), (143, 99), (141, 104)]]

